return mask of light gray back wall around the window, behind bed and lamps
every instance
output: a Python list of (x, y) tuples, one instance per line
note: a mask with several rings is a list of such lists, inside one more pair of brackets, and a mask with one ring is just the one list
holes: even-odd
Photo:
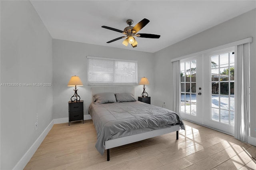
[[(78, 75), (84, 86), (77, 87), (78, 95), (84, 100), (84, 115), (88, 115), (88, 107), (92, 102), (91, 87), (87, 85), (86, 56), (130, 59), (138, 61), (138, 81), (148, 77), (150, 85), (146, 91), (154, 99), (154, 63), (153, 53), (132, 51), (87, 43), (65, 40), (53, 40), (53, 118), (68, 117), (68, 101), (74, 94), (74, 87), (67, 87), (72, 75)], [(135, 96), (141, 96), (142, 85), (135, 86)], [(154, 101), (152, 101), (154, 103)]]

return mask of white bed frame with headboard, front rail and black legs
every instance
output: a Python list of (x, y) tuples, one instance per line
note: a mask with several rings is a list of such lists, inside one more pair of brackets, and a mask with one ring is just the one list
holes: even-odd
[[(134, 95), (134, 87), (133, 86), (128, 86), (128, 87), (92, 87), (91, 89), (92, 96), (97, 94), (97, 93), (131, 93)], [(130, 144), (133, 142), (138, 142), (140, 140), (145, 140), (148, 138), (160, 136), (162, 134), (167, 134), (170, 132), (175, 132), (176, 131), (176, 140), (179, 138), (179, 130), (180, 130), (180, 125), (174, 125), (169, 128), (163, 128), (163, 129), (158, 129), (158, 130), (152, 130), (149, 132), (144, 132), (140, 134), (134, 134), (130, 136), (125, 136), (121, 138), (115, 138), (111, 140), (105, 141), (105, 149), (107, 150), (107, 161), (110, 160), (110, 149), (115, 148), (118, 146), (122, 146), (125, 144)]]

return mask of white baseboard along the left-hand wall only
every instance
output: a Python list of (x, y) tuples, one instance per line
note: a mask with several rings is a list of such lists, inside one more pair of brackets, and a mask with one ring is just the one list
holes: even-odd
[(14, 170), (21, 170), (24, 169), (26, 164), (32, 158), (33, 154), (36, 152), (42, 141), (44, 140), (45, 136), (51, 130), (52, 126), (54, 125), (54, 120), (44, 129), (42, 134), (36, 139), (36, 141), (32, 144), (32, 146), (28, 149), (28, 151), (22, 156), (20, 161), (14, 166)]

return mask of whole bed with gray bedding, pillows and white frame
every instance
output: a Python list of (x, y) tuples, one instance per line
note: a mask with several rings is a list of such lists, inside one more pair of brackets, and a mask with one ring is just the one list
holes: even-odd
[(93, 87), (89, 114), (97, 132), (100, 154), (110, 148), (184, 129), (180, 117), (168, 109), (136, 101), (134, 87)]

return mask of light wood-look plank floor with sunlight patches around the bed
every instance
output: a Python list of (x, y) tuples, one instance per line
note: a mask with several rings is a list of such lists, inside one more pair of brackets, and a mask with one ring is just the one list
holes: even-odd
[(256, 169), (256, 147), (215, 130), (184, 121), (186, 131), (150, 138), (133, 144), (96, 150), (91, 120), (54, 125), (25, 170), (235, 170)]

